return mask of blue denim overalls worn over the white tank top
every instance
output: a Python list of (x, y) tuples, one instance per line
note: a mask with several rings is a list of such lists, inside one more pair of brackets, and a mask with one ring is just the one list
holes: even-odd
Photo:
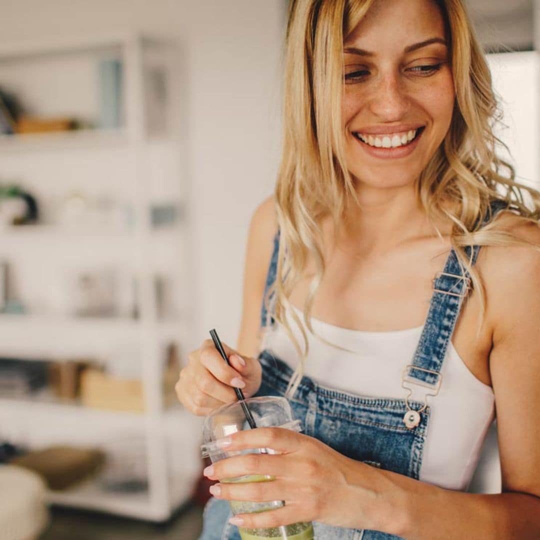
[[(505, 207), (507, 205), (501, 201), (494, 201), (484, 222)], [(274, 238), (265, 295), (275, 280), (278, 249), (279, 231)], [(474, 264), (479, 248), (466, 248), (469, 256), (471, 249)], [(452, 249), (443, 271), (433, 280), (434, 293), (414, 357), (410, 365), (403, 366), (403, 399), (357, 396), (327, 388), (304, 376), (294, 397), (289, 399), (295, 417), (302, 422), (303, 433), (318, 438), (354, 460), (417, 480), (430, 410), (426, 399), (408, 399), (407, 384), (423, 388), (426, 397), (438, 393), (442, 362), (468, 285), (469, 278)], [(274, 323), (263, 306), (261, 325), (264, 326), (268, 319)], [(285, 395), (292, 369), (266, 349), (260, 353), (259, 361), (262, 384), (257, 395)], [(204, 530), (199, 540), (240, 540), (238, 529), (228, 523), (231, 516), (227, 501), (212, 498), (205, 508)], [(314, 532), (317, 540), (400, 538), (380, 531), (343, 529), (318, 522), (314, 523)]]

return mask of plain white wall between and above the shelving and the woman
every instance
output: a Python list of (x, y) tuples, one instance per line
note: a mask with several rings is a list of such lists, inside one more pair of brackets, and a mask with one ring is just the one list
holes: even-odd
[(198, 299), (188, 348), (213, 327), (225, 342), (237, 339), (249, 217), (278, 166), (284, 11), (275, 0), (0, 0), (0, 43), (124, 29), (184, 43), (194, 270), (186, 285)]

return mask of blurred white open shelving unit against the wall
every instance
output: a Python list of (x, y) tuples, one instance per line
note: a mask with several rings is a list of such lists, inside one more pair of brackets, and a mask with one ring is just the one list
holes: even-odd
[[(164, 407), (162, 381), (166, 345), (176, 342), (185, 353), (191, 329), (188, 223), (156, 230), (150, 212), (152, 204), (163, 201), (186, 205), (177, 47), (136, 33), (2, 45), (0, 87), (9, 87), (31, 106), (52, 104), (61, 109), (55, 112), (66, 114), (75, 104), (76, 111), (95, 116), (97, 88), (89, 86), (96, 59), (103, 55), (122, 62), (123, 125), (0, 136), (0, 184), (20, 183), (44, 201), (44, 224), (0, 230), (0, 260), (9, 262), (28, 307), (20, 315), (0, 315), (0, 356), (103, 359), (143, 380), (145, 413), (0, 396), (0, 436), (30, 447), (139, 437), (146, 453), (147, 491), (111, 494), (90, 481), (50, 492), (49, 500), (163, 521), (188, 500), (200, 472), (200, 422), (179, 406)], [(148, 75), (156, 70), (165, 73), (161, 90), (166, 91), (167, 110), (154, 125)], [(66, 93), (66, 87), (72, 90)], [(58, 201), (76, 191), (90, 197), (105, 193), (131, 209), (130, 219), (114, 225), (57, 222)], [(58, 300), (69, 297), (66, 276), (80, 267), (109, 266), (124, 272), (125, 279), (136, 279), (138, 317), (70, 314), (66, 298)], [(158, 306), (158, 275), (166, 275), (171, 285), (172, 307), (165, 314)]]

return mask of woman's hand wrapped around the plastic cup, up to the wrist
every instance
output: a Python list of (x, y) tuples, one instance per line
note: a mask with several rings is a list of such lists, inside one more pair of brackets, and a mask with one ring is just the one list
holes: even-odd
[[(279, 454), (242, 454), (221, 460), (204, 471), (212, 480), (269, 475), (268, 482), (219, 483), (214, 497), (231, 501), (284, 501), (285, 506), (241, 514), (231, 523), (247, 529), (320, 521), (337, 527), (377, 527), (379, 494), (369, 485), (380, 471), (343, 456), (313, 437), (284, 428), (240, 431), (222, 439), (227, 452), (270, 448)], [(359, 478), (361, 484), (359, 485)]]

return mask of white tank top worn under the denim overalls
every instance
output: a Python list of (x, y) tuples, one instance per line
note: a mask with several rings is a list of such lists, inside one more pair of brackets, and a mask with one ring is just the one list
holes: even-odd
[[(297, 308), (294, 310), (303, 320), (302, 312)], [(288, 321), (303, 347), (300, 330), (290, 315)], [(413, 360), (423, 327), (395, 332), (363, 332), (313, 318), (312, 326), (323, 339), (354, 353), (327, 345), (306, 329), (309, 352), (305, 375), (322, 386), (350, 394), (406, 397), (407, 391), (401, 387), (401, 374)], [(296, 367), (298, 353), (279, 322), (266, 330), (262, 348), (293, 369)], [(465, 490), (494, 419), (495, 398), (491, 387), (478, 380), (465, 366), (451, 342), (441, 373), (440, 392), (435, 397), (428, 397), (431, 414), (420, 480), (442, 488)], [(416, 390), (422, 388), (416, 387)], [(412, 397), (421, 401), (423, 394), (414, 393)]]

